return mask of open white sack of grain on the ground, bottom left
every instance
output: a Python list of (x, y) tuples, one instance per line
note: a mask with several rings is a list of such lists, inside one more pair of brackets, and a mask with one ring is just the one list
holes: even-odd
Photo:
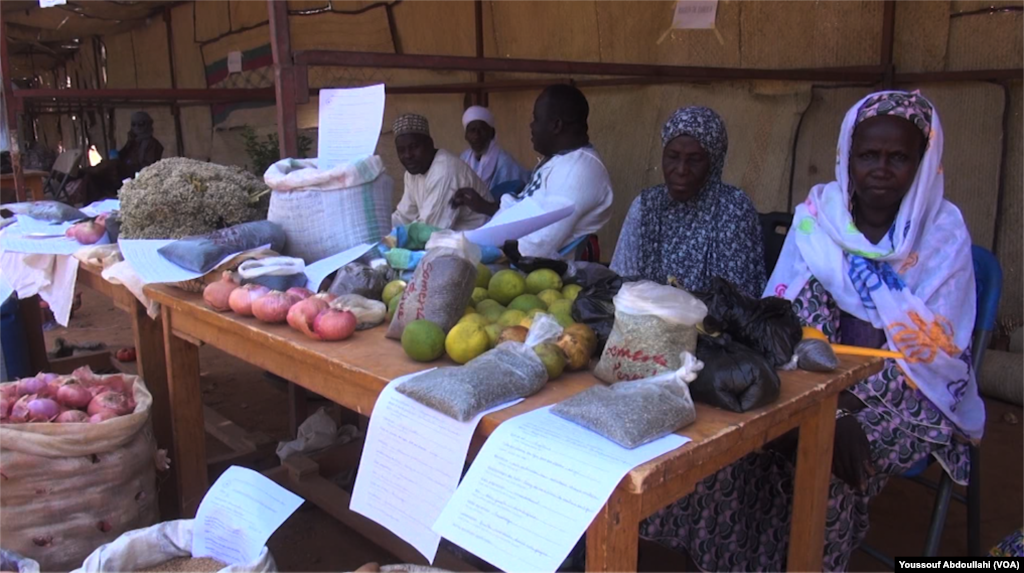
[[(191, 557), (193, 520), (160, 523), (145, 529), (129, 531), (113, 542), (102, 545), (85, 559), (82, 567), (72, 573), (111, 573), (140, 571), (167, 563), (172, 559)], [(276, 573), (278, 564), (263, 547), (256, 560), (242, 565), (228, 565), (219, 573)]]

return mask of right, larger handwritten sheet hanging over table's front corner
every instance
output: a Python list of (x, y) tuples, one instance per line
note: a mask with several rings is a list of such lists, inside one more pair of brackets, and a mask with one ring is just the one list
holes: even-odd
[(487, 438), (434, 531), (509, 573), (555, 571), (630, 470), (686, 442), (626, 449), (541, 408)]

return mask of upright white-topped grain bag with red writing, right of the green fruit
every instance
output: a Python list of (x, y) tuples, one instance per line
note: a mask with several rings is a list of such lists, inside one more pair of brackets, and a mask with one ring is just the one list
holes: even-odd
[(708, 307), (686, 291), (641, 280), (623, 284), (612, 303), (615, 322), (594, 369), (598, 379), (611, 384), (675, 371), (680, 355), (696, 350)]

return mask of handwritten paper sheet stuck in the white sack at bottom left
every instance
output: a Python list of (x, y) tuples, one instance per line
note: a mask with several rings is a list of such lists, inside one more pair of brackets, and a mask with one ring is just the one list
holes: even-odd
[(193, 557), (252, 563), (303, 499), (257, 472), (232, 466), (206, 492), (193, 525)]

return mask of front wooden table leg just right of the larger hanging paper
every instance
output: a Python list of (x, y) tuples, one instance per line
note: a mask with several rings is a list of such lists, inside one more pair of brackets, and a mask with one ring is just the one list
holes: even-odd
[(587, 530), (587, 571), (636, 571), (640, 496), (616, 487)]

